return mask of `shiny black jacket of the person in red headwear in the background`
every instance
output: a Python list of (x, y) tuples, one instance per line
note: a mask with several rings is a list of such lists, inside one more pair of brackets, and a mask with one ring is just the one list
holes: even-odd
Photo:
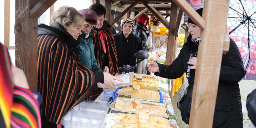
[(132, 32), (134, 35), (137, 35), (141, 39), (143, 46), (147, 42), (147, 31), (147, 28), (145, 29), (140, 22), (137, 22)]

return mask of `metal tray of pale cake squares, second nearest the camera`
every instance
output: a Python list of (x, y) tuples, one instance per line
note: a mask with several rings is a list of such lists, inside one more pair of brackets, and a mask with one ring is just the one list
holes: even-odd
[(116, 98), (111, 107), (112, 113), (133, 113), (148, 112), (151, 116), (169, 118), (166, 104), (141, 101), (138, 99)]

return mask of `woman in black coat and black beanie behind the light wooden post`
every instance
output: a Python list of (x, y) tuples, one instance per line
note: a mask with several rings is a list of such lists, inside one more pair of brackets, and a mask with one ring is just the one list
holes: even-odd
[[(197, 10), (197, 12), (202, 15), (202, 9)], [(150, 65), (147, 65), (148, 69), (155, 73), (155, 75), (168, 79), (179, 78), (184, 72), (186, 72), (189, 84), (188, 91), (190, 91), (190, 95), (186, 95), (183, 98), (183, 103), (190, 103), (190, 105), (187, 105), (187, 108), (181, 108), (180, 110), (182, 119), (187, 124), (189, 123), (190, 111), (188, 110), (190, 110), (191, 107), (191, 97), (197, 65), (196, 55), (199, 44), (195, 39), (200, 38), (201, 32), (200, 28), (196, 26), (191, 19), (188, 19), (188, 25), (188, 32), (190, 35), (187, 38), (187, 42), (181, 49), (179, 56), (171, 65), (167, 66), (159, 63), (151, 63)], [(213, 128), (243, 127), (242, 105), (238, 82), (244, 77), (244, 75), (245, 71), (243, 68), (243, 61), (238, 47), (236, 43), (230, 39), (229, 51), (222, 57)], [(188, 111), (187, 114), (184, 113), (184, 111)], [(207, 115), (207, 113), (205, 113), (205, 115)]]

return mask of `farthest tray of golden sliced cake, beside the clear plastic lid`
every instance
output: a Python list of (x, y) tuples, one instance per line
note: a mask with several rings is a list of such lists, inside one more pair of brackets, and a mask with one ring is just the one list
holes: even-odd
[(133, 86), (140, 86), (140, 89), (155, 90), (155, 91), (159, 90), (158, 76), (135, 73), (131, 81)]

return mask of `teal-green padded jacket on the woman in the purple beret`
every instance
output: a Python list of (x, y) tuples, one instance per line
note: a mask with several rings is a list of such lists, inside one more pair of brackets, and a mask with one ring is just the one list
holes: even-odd
[(82, 34), (77, 39), (80, 41), (80, 44), (74, 47), (74, 51), (78, 55), (80, 62), (87, 68), (93, 71), (101, 71), (101, 69), (97, 65), (97, 61), (94, 55), (93, 39), (91, 38), (91, 36), (93, 36), (93, 33), (94, 29), (91, 29), (89, 37), (85, 38), (85, 32), (82, 31)]

